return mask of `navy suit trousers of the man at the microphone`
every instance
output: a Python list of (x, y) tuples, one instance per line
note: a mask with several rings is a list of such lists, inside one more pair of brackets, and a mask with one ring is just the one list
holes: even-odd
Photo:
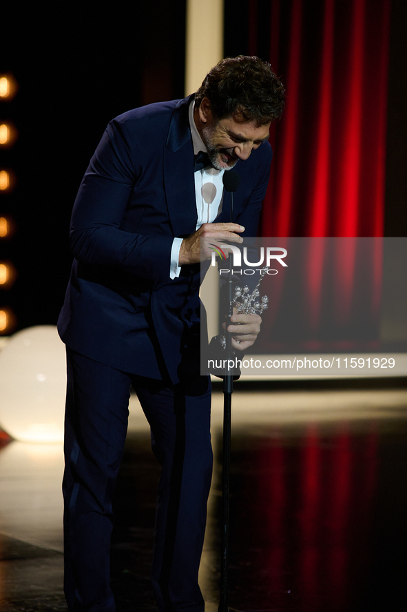
[(109, 587), (112, 496), (127, 433), (130, 384), (163, 466), (152, 570), (158, 609), (203, 612), (198, 568), (212, 473), (209, 379), (197, 376), (168, 386), (69, 348), (63, 477), (67, 604), (72, 612), (115, 609)]

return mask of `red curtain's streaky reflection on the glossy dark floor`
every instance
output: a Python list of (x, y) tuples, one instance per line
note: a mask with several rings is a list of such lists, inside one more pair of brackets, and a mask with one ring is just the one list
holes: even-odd
[(256, 441), (256, 475), (242, 489), (253, 515), (241, 512), (235, 529), (250, 524), (251, 546), (261, 543), (251, 571), (269, 581), (275, 609), (292, 609), (295, 598), (295, 610), (343, 612), (366, 598), (377, 446), (375, 424), (354, 437), (343, 420), (328, 436), (308, 424), (298, 444), (279, 428)]

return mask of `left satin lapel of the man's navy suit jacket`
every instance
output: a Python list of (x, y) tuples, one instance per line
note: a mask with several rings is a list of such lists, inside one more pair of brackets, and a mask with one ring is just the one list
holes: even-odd
[(188, 107), (192, 97), (174, 108), (164, 150), (164, 188), (174, 236), (185, 237), (196, 228), (194, 148), (189, 129)]

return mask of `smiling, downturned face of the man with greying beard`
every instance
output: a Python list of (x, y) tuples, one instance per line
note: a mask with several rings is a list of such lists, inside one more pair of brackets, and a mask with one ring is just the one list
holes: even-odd
[(239, 115), (214, 119), (210, 102), (202, 100), (200, 111), (200, 135), (208, 150), (213, 168), (231, 170), (239, 159), (248, 159), (253, 149), (269, 139), (270, 124), (256, 126), (253, 121), (243, 121)]

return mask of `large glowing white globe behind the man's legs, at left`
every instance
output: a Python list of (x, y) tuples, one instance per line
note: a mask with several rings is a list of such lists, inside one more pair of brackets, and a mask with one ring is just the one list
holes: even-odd
[(61, 442), (65, 346), (56, 326), (15, 333), (0, 353), (0, 425), (21, 442)]

